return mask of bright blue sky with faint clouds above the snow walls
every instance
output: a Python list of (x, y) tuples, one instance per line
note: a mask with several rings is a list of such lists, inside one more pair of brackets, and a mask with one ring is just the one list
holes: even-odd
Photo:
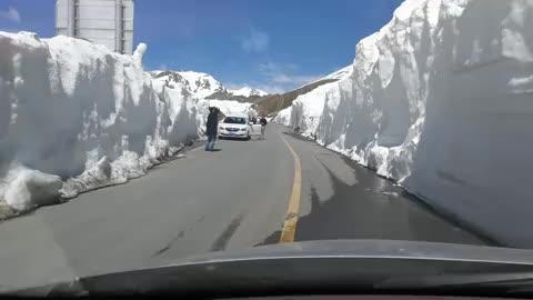
[[(283, 91), (348, 66), (401, 0), (137, 0), (144, 68)], [(54, 34), (54, 0), (0, 0), (0, 30)]]

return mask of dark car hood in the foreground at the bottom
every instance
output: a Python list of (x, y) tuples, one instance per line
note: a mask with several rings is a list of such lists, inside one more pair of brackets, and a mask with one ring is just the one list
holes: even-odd
[[(213, 252), (9, 294), (258, 296), (269, 291), (304, 292), (309, 287), (323, 287), (325, 292), (413, 292), (441, 288), (450, 280), (453, 284), (533, 281), (533, 251), (390, 240), (295, 242)], [(331, 287), (335, 290), (328, 290)]]

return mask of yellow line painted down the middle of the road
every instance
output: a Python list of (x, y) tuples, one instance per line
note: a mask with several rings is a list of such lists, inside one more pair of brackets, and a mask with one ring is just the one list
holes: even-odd
[(292, 153), (294, 159), (294, 180), (292, 182), (291, 197), (289, 198), (289, 208), (286, 209), (285, 221), (281, 230), (280, 243), (294, 241), (294, 234), (296, 232), (298, 212), (300, 210), (300, 199), (302, 190), (302, 167), (300, 158), (298, 157), (291, 144), (281, 136), (281, 139), (285, 142), (286, 147)]

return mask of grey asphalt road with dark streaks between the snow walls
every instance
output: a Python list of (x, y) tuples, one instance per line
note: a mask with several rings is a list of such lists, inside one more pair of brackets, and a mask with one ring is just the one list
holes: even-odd
[(0, 223), (0, 290), (276, 243), (294, 158), (294, 240), (400, 239), (484, 244), (392, 182), (269, 126), (266, 140), (220, 141), (127, 184)]

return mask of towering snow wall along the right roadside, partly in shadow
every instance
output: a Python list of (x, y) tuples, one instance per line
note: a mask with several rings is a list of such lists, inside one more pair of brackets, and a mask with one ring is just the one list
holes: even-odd
[(496, 240), (533, 247), (531, 28), (527, 0), (404, 1), (358, 43), (312, 133)]

